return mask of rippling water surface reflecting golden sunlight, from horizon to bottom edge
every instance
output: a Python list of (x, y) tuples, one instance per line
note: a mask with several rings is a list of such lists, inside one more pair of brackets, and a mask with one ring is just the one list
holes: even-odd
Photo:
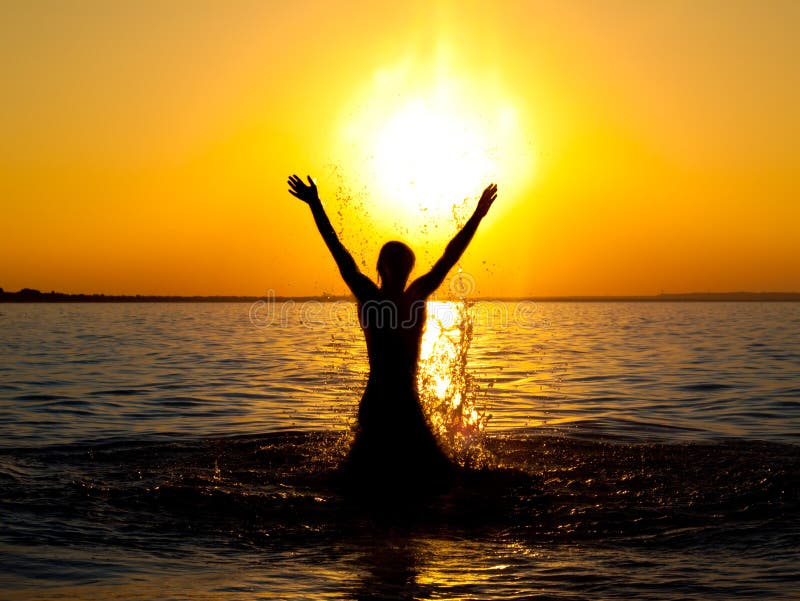
[(398, 500), (352, 304), (0, 305), (0, 598), (800, 598), (800, 303), (429, 314)]

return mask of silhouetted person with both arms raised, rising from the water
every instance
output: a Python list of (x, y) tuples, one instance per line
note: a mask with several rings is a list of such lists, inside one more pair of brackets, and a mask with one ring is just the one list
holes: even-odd
[(425, 275), (406, 285), (414, 253), (402, 242), (387, 242), (378, 256), (380, 285), (359, 271), (342, 245), (319, 199), (311, 177), (296, 175), (289, 192), (311, 208), (345, 283), (358, 302), (358, 315), (369, 356), (369, 380), (358, 408), (356, 437), (345, 471), (369, 487), (436, 485), (446, 482), (455, 466), (441, 450), (425, 420), (417, 393), (417, 363), (425, 326), (425, 301), (472, 240), (497, 197), (489, 185), (472, 217), (447, 245), (444, 255)]

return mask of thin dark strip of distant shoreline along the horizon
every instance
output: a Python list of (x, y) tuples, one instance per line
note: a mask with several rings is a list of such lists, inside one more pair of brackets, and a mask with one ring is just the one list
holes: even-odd
[[(353, 301), (352, 296), (160, 296), (144, 294), (67, 294), (23, 289), (0, 292), (0, 303), (254, 303), (270, 299), (274, 302)], [(447, 299), (442, 299), (447, 300)], [(501, 302), (800, 302), (800, 292), (689, 292), (637, 296), (519, 296), (476, 297), (471, 301)]]

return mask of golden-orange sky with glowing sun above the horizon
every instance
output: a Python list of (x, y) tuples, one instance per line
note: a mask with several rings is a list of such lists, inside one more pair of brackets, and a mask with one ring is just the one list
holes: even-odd
[[(800, 2), (3, 2), (0, 286), (341, 293), (495, 180), (481, 295), (800, 290)], [(465, 200), (465, 198), (469, 200)]]

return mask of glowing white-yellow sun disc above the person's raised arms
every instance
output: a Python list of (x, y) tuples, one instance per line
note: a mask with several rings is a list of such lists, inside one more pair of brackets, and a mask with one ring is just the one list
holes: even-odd
[(337, 146), (347, 187), (366, 195), (362, 209), (412, 235), (463, 221), (492, 182), (508, 208), (509, 192), (519, 193), (534, 169), (510, 96), (451, 66), (379, 70), (346, 111)]

